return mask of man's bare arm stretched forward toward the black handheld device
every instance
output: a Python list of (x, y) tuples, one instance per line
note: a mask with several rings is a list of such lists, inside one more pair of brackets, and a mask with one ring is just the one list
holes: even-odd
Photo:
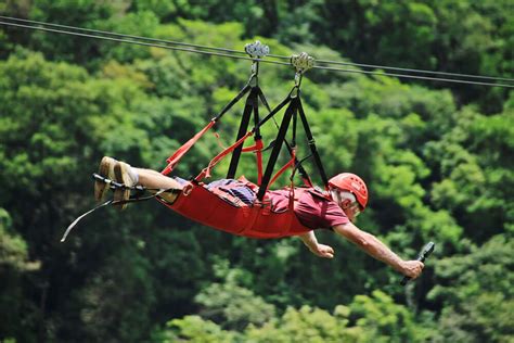
[(419, 261), (403, 261), (397, 254), (395, 254), (387, 245), (380, 241), (373, 234), (362, 231), (354, 224), (348, 223), (344, 225), (337, 225), (334, 231), (345, 237), (350, 242), (357, 244), (360, 249), (367, 252), (369, 255), (376, 259), (380, 259), (395, 270), (414, 279), (420, 276), (423, 270), (423, 263)]

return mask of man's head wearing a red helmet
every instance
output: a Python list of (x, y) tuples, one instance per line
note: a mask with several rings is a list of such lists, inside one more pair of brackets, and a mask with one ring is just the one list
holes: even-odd
[(368, 187), (364, 181), (355, 174), (342, 173), (331, 178), (329, 186), (332, 199), (354, 221), (368, 204)]

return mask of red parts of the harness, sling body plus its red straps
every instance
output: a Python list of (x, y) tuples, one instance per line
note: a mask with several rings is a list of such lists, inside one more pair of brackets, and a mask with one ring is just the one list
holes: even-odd
[[(185, 144), (179, 148), (179, 150), (177, 150), (167, 160), (168, 165), (162, 172), (162, 174), (168, 175), (175, 168), (180, 158), (207, 130), (213, 127), (214, 124), (215, 120), (211, 120), (204, 129), (202, 129)], [(219, 194), (215, 194), (207, 190), (204, 187), (204, 183), (201, 182), (203, 178), (210, 176), (210, 169), (216, 164), (218, 164), (219, 161), (234, 151), (235, 148), (243, 144), (249, 136), (253, 136), (253, 131), (248, 131), (235, 143), (224, 149), (216, 157), (214, 157), (208, 166), (204, 168), (198, 176), (196, 176), (194, 181), (191, 181), (183, 188), (182, 193), (177, 198), (174, 204), (168, 204), (163, 200), (159, 201), (187, 218), (222, 231), (244, 237), (270, 239), (297, 236), (311, 231), (312, 229), (304, 226), (294, 213), (295, 191), (293, 185), (291, 188), (290, 206), (287, 211), (275, 213), (271, 211), (271, 203), (266, 195), (262, 201), (256, 200), (252, 206), (248, 206), (244, 203), (237, 203), (228, 194), (224, 194), (222, 198), (220, 198)], [(257, 141), (254, 147), (246, 149), (246, 151), (257, 151), (258, 166), (261, 165), (261, 149), (262, 143), (260, 140)], [(287, 167), (294, 165), (294, 151), (292, 155), (292, 160), (279, 170), (272, 182), (283, 172), (285, 172)], [(258, 174), (260, 182), (262, 177), (261, 167), (259, 167)], [(258, 191), (257, 186), (252, 185), (249, 187)]]

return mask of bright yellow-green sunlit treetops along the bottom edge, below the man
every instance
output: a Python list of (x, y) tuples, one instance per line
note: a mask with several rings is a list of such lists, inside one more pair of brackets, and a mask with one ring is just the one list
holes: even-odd
[(287, 307), (280, 318), (245, 330), (223, 331), (203, 317), (187, 316), (168, 322), (157, 336), (188, 342), (423, 342), (429, 330), (416, 326), (404, 306), (375, 291), (356, 296), (349, 306), (337, 305), (333, 314), (307, 305)]

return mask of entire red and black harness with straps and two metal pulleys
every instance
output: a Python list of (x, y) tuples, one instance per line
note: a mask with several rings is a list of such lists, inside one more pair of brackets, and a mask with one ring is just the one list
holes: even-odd
[[(194, 135), (188, 142), (185, 142), (167, 158), (167, 166), (162, 170), (162, 174), (169, 175), (175, 169), (179, 161), (196, 143), (196, 141), (202, 138), (218, 120), (220, 120), (221, 117), (234, 104), (236, 104), (243, 99), (243, 97), (247, 94), (235, 142), (223, 151), (221, 151), (195, 178), (191, 179), (189, 183), (183, 187), (177, 200), (172, 204), (165, 201), (163, 198), (159, 196), (159, 194), (162, 194), (163, 192), (177, 192), (178, 190), (158, 190), (157, 193), (151, 196), (142, 198), (141, 192), (145, 191), (144, 188), (142, 188), (141, 186), (131, 188), (137, 191), (137, 194), (132, 195), (130, 200), (117, 202), (113, 202), (112, 200), (107, 201), (106, 203), (94, 207), (93, 209), (77, 218), (67, 228), (66, 233), (63, 237), (63, 241), (66, 238), (67, 233), (70, 231), (70, 229), (78, 223), (78, 220), (100, 207), (104, 207), (106, 205), (115, 203), (121, 204), (125, 202), (149, 200), (152, 198), (156, 198), (159, 202), (184, 217), (188, 217), (206, 226), (210, 226), (216, 229), (239, 236), (266, 239), (295, 236), (312, 230), (311, 228), (304, 226), (294, 214), (295, 199), (299, 199), (299, 195), (301, 195), (306, 190), (295, 190), (293, 178), (295, 173), (299, 172), (299, 175), (305, 186), (308, 188), (312, 188), (312, 181), (307, 172), (301, 166), (301, 163), (307, 158), (313, 157), (314, 164), (318, 167), (325, 189), (327, 189), (329, 187), (326, 174), (321, 164), (321, 158), (317, 151), (316, 142), (312, 137), (312, 132), (309, 128), (309, 124), (307, 122), (307, 117), (305, 115), (300, 98), (300, 84), (303, 75), (307, 69), (313, 66), (314, 61), (305, 52), (300, 55), (292, 56), (291, 63), (296, 68), (295, 85), (287, 94), (287, 97), (278, 106), (271, 110), (262, 90), (258, 85), (258, 62), (261, 58), (269, 53), (269, 48), (267, 46), (261, 45), (259, 41), (256, 41), (255, 43), (246, 45), (245, 51), (253, 59), (252, 75), (248, 82), (243, 87), (243, 89), (237, 93), (237, 96), (235, 96), (221, 110), (221, 112), (217, 116), (211, 118), (210, 122), (202, 130)], [(260, 119), (259, 117), (259, 100), (269, 112), (262, 119)], [(272, 142), (272, 144), (269, 148), (265, 149), (262, 143), (262, 137), (260, 135), (260, 127), (269, 119), (273, 118), (273, 116), (286, 105), (287, 107), (282, 118), (278, 136)], [(248, 130), (252, 114), (254, 115), (254, 127)], [(301, 161), (298, 161), (296, 156), (296, 127), (298, 116), (300, 117), (300, 122), (303, 124), (311, 152), (309, 156), (303, 158)], [(290, 143), (285, 139), (285, 136), (288, 131), (291, 123), (293, 123), (293, 138)], [(243, 148), (243, 144), (246, 139), (252, 136), (254, 136), (254, 145)], [(274, 166), (277, 164), (283, 144), (285, 144), (285, 147), (287, 148), (291, 158), (273, 176)], [(267, 163), (266, 169), (264, 170), (262, 152), (271, 148), (272, 151)], [(247, 181), (246, 183), (257, 194), (254, 203), (242, 204), (239, 199), (234, 199), (226, 192), (220, 193), (216, 191), (209, 191), (205, 188), (203, 179), (210, 177), (211, 169), (229, 154), (231, 154), (232, 157), (227, 178), (234, 178), (241, 153), (246, 152), (253, 152), (256, 155), (258, 174), (257, 185), (254, 185), (249, 181)], [(268, 191), (269, 187), (279, 178), (279, 176), (290, 168), (292, 169), (292, 174), (290, 177), (290, 205), (287, 211), (277, 213), (272, 211), (271, 202), (266, 195), (266, 192)], [(113, 182), (112, 180), (108, 180), (100, 175), (94, 174), (93, 177), (95, 178), (95, 180), (106, 182), (112, 189), (127, 189), (125, 185), (117, 185), (116, 182)]]

